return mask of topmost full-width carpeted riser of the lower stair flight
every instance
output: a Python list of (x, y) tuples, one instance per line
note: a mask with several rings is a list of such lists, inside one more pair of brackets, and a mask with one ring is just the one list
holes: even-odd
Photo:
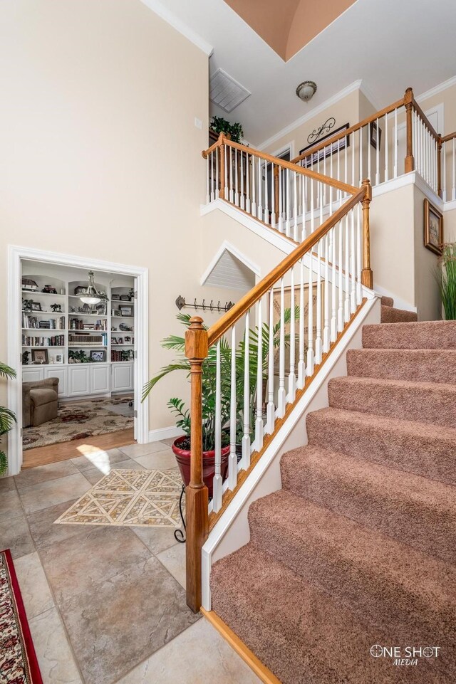
[(363, 347), (370, 349), (456, 349), (456, 321), (363, 325)]

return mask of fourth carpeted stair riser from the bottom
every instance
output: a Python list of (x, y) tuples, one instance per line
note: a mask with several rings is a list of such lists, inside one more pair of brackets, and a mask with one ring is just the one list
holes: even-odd
[(456, 485), (456, 443), (447, 438), (328, 420), (318, 413), (308, 414), (306, 426), (309, 444)]

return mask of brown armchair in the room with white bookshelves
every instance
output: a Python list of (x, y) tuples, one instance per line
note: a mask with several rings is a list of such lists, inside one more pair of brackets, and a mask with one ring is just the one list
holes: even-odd
[(41, 425), (57, 418), (58, 378), (22, 383), (22, 426)]

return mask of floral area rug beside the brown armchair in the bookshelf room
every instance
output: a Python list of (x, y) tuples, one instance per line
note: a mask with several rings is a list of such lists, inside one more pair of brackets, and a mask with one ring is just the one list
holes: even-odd
[(36, 428), (24, 428), (23, 448), (33, 449), (133, 428), (133, 409), (128, 406), (132, 399), (122, 396), (62, 404), (57, 418)]

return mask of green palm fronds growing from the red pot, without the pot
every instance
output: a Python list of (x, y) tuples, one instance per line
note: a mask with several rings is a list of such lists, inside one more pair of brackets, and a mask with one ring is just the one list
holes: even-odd
[[(299, 307), (295, 307), (295, 319), (299, 320)], [(190, 315), (178, 314), (177, 320), (189, 327)], [(284, 324), (287, 325), (291, 320), (291, 310), (284, 311)], [(207, 330), (207, 327), (205, 327)], [(266, 382), (266, 370), (268, 364), (269, 350), (269, 325), (264, 323), (261, 330), (262, 344), (262, 369), (263, 383)], [(285, 346), (289, 346), (289, 333), (284, 335)], [(274, 348), (280, 344), (280, 322), (273, 328)], [(157, 382), (165, 375), (175, 371), (185, 371), (187, 378), (190, 377), (190, 361), (185, 356), (185, 338), (177, 335), (170, 335), (162, 340), (164, 349), (172, 349), (177, 352), (177, 358), (172, 363), (163, 367), (155, 377), (145, 385), (142, 391), (142, 401), (152, 391)], [(258, 362), (258, 327), (249, 330), (249, 388), (250, 388), (250, 419), (249, 424), (253, 429), (255, 414), (255, 398), (257, 396), (257, 362)], [(245, 338), (243, 337), (235, 351), (236, 358), (236, 422), (237, 422), (237, 441), (240, 442), (243, 433), (243, 411), (244, 411), (244, 359), (245, 359)], [(220, 340), (220, 404), (221, 404), (221, 423), (222, 423), (222, 447), (229, 443), (229, 417), (231, 406), (231, 347), (227, 340), (222, 337)], [(215, 394), (217, 377), (217, 347), (209, 347), (207, 359), (202, 364), (202, 448), (203, 451), (213, 451), (215, 447)], [(191, 419), (190, 410), (185, 407), (185, 401), (173, 397), (167, 402), (167, 406), (175, 414), (177, 427), (187, 435), (188, 443), (184, 448), (190, 449), (190, 429)]]

